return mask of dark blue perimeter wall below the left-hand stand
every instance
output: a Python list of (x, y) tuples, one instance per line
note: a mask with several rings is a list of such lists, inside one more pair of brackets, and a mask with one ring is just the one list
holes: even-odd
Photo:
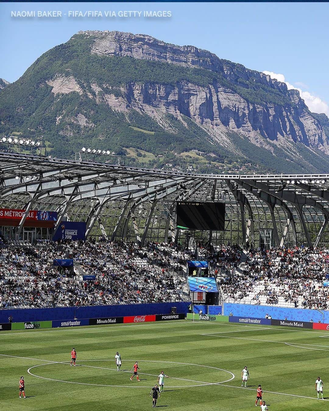
[(154, 304), (118, 304), (92, 307), (58, 307), (58, 308), (18, 308), (0, 310), (0, 323), (7, 323), (9, 315), (13, 322), (72, 320), (74, 312), (77, 319), (124, 317), (135, 315), (170, 314), (171, 307), (177, 307), (177, 313), (188, 311), (189, 302), (158, 302)]

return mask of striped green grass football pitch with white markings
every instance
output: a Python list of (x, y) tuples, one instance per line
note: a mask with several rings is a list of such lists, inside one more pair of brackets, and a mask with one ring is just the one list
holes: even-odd
[[(73, 346), (77, 367), (69, 366)], [(157, 403), (168, 411), (255, 409), (258, 384), (270, 411), (328, 410), (326, 351), (328, 331), (207, 321), (3, 331), (0, 410), (145, 410), (162, 370), (174, 377)], [(135, 360), (140, 382), (129, 380)], [(245, 365), (250, 379), (241, 388)], [(18, 398), (21, 375), (27, 399)], [(324, 401), (316, 399), (317, 376)]]

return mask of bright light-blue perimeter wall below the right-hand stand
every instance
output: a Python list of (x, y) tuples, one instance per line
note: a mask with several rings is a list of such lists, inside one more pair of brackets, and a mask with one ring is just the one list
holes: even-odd
[[(269, 314), (272, 319), (293, 321), (310, 321), (313, 319), (323, 322), (323, 317), (320, 312), (315, 309), (301, 309), (301, 308), (283, 308), (273, 307), (272, 305), (248, 305), (248, 304), (232, 304), (224, 303), (224, 314), (228, 315), (230, 312), (236, 317), (252, 317), (265, 318), (265, 314)], [(329, 311), (324, 311), (324, 323), (329, 323)]]

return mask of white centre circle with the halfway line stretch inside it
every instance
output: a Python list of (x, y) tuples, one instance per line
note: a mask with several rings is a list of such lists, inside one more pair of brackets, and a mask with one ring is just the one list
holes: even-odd
[[(18, 357), (18, 358), (19, 358), (19, 357)], [(39, 360), (39, 361), (44, 361), (44, 360)], [(82, 360), (82, 361), (115, 361), (115, 360)], [(133, 361), (133, 360), (122, 360), (122, 361)], [(156, 360), (154, 360), (154, 361), (152, 361), (152, 360), (140, 360), (140, 362), (141, 362), (141, 363), (147, 362), (147, 363), (170, 363), (170, 364), (195, 365), (195, 366), (198, 366), (198, 367), (206, 367), (206, 368), (218, 369), (218, 370), (220, 370), (220, 371), (228, 372), (229, 374), (232, 375), (232, 377), (231, 377), (230, 379), (228, 379), (228, 380), (226, 380), (226, 381), (221, 381), (221, 382), (218, 382), (218, 383), (208, 383), (208, 382), (205, 382), (205, 381), (195, 381), (195, 380), (189, 380), (189, 379), (184, 379), (184, 378), (171, 377), (172, 379), (177, 379), (177, 380), (182, 380), (182, 381), (189, 381), (189, 382), (197, 382), (197, 383), (200, 383), (200, 384), (199, 384), (199, 385), (193, 384), (193, 385), (191, 385), (191, 386), (167, 386), (167, 388), (185, 388), (185, 387), (200, 387), (200, 386), (205, 386), (205, 385), (218, 385), (218, 384), (221, 384), (221, 383), (225, 383), (225, 382), (232, 381), (232, 379), (235, 378), (235, 375), (234, 375), (232, 372), (230, 372), (230, 371), (227, 371), (227, 370), (225, 370), (225, 369), (221, 369), (221, 368), (218, 368), (218, 367), (210, 367), (210, 366), (208, 366), (208, 365), (189, 364), (189, 363), (178, 363), (178, 362), (175, 362), (175, 361), (159, 361), (159, 360), (157, 360), (157, 361), (156, 361)], [(71, 383), (71, 384), (92, 385), (92, 386), (104, 386), (104, 387), (122, 387), (122, 388), (131, 387), (131, 386), (117, 386), (117, 385), (107, 385), (107, 384), (91, 384), (91, 383), (79, 383), (79, 382), (74, 382), (74, 381), (63, 381), (63, 380), (57, 380), (57, 379), (53, 379), (53, 378), (41, 377), (41, 376), (39, 376), (39, 375), (35, 375), (35, 374), (32, 374), (32, 372), (30, 372), (30, 370), (31, 370), (32, 368), (41, 367), (41, 366), (43, 366), (43, 365), (49, 365), (49, 364), (54, 364), (54, 363), (55, 363), (55, 364), (66, 364), (66, 365), (69, 365), (69, 363), (66, 363), (66, 362), (48, 361), (48, 363), (39, 364), (39, 365), (34, 365), (33, 367), (30, 367), (30, 368), (28, 369), (28, 373), (29, 373), (30, 375), (32, 375), (32, 376), (37, 377), (37, 378), (46, 379), (46, 380), (50, 380), (50, 381), (58, 381), (58, 382)], [(81, 364), (81, 365), (79, 365), (79, 366), (80, 366), (80, 367), (99, 368), (99, 369), (108, 369), (108, 370), (111, 370), (111, 371), (116, 371), (116, 369), (114, 369), (114, 368), (94, 367), (94, 366), (92, 366), (92, 365), (83, 365), (83, 364)], [(129, 373), (130, 373), (130, 371), (126, 371), (126, 370), (122, 370), (122, 371), (124, 371), (124, 372), (129, 372)], [(140, 372), (139, 374), (149, 375), (149, 376), (157, 376), (157, 375), (155, 375), (155, 374), (146, 374), (146, 373), (143, 373), (143, 372)], [(138, 386), (132, 386), (132, 387), (133, 387), (133, 388), (138, 388), (138, 387), (139, 387), (139, 388), (150, 388), (149, 386), (139, 386), (139, 385), (138, 385)]]

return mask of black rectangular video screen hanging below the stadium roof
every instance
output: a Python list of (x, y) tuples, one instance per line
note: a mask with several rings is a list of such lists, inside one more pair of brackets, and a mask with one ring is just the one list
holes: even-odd
[(225, 203), (177, 201), (176, 228), (223, 231)]

